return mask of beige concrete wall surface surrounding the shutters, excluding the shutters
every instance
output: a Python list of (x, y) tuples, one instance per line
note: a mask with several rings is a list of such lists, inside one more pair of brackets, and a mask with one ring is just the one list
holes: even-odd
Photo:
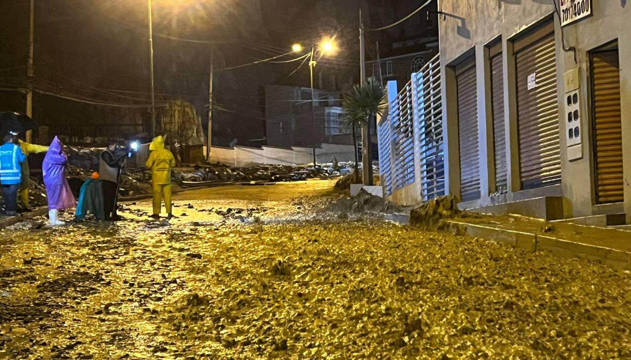
[[(451, 194), (459, 195), (459, 168), (457, 144), (457, 102), (455, 98), (455, 74), (452, 66), (466, 55), (475, 54), (478, 86), (478, 124), (480, 130), (480, 178), (481, 199), (465, 204), (464, 207), (487, 206), (497, 202), (489, 194), (494, 189), (492, 131), (490, 124), (490, 74), (486, 45), (500, 38), (504, 54), (504, 105), (507, 135), (507, 160), (509, 192), (502, 195), (505, 201), (528, 199), (536, 196), (562, 194), (565, 216), (589, 216), (601, 212), (616, 212), (622, 206), (594, 206), (595, 190), (593, 177), (593, 119), (591, 116), (591, 91), (589, 83), (589, 51), (611, 40), (618, 40), (621, 68), (622, 132), (625, 179), (631, 179), (631, 76), (625, 73), (631, 67), (631, 5), (625, 0), (593, 0), (593, 15), (563, 28), (565, 47), (575, 47), (574, 54), (563, 50), (561, 28), (558, 17), (553, 15), (552, 0), (439, 0), (439, 8), (445, 19), (440, 21), (441, 75), (444, 99), (443, 118), (445, 128), (445, 163), (449, 164), (445, 174), (445, 185)], [(569, 161), (564, 136), (565, 125), (560, 123), (560, 146), (562, 161), (562, 185), (536, 190), (521, 190), (519, 180), (519, 154), (517, 153), (517, 110), (515, 95), (515, 69), (512, 40), (530, 26), (551, 18), (555, 22), (557, 45), (557, 95), (559, 119), (565, 119), (563, 108), (563, 74), (579, 68), (581, 86), (581, 129), (582, 158)], [(631, 185), (625, 181), (625, 212), (631, 221)]]

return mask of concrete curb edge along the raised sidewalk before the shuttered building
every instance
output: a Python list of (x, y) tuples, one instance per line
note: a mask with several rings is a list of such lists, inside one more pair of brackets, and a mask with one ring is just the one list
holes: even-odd
[(560, 257), (578, 257), (587, 260), (598, 260), (603, 262), (603, 264), (611, 265), (619, 269), (631, 269), (631, 252), (578, 243), (576, 241), (555, 238), (550, 235), (524, 233), (521, 231), (498, 229), (459, 221), (445, 220), (444, 224), (445, 230), (497, 241), (514, 248), (528, 250), (529, 252), (548, 250)]

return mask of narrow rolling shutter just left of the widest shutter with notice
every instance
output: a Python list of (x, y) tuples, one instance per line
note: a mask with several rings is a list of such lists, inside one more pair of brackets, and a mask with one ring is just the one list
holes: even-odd
[(491, 96), (493, 107), (493, 148), (495, 149), (495, 189), (507, 189), (506, 130), (504, 125), (504, 73), (502, 53), (491, 59)]

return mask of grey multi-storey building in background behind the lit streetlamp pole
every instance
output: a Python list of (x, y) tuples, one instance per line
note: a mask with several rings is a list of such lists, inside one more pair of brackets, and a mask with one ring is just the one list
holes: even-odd
[(265, 86), (267, 145), (292, 148), (352, 144), (351, 130), (343, 125), (340, 96), (339, 91), (314, 90), (312, 121), (310, 88)]

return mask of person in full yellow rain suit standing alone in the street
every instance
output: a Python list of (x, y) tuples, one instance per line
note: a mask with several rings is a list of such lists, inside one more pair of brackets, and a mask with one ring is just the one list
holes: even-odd
[(162, 195), (164, 194), (164, 205), (167, 208), (168, 218), (172, 218), (171, 212), (171, 168), (175, 166), (173, 154), (164, 148), (164, 138), (155, 137), (149, 145), (149, 158), (146, 166), (151, 170), (153, 180), (153, 216), (160, 218), (162, 207)]

